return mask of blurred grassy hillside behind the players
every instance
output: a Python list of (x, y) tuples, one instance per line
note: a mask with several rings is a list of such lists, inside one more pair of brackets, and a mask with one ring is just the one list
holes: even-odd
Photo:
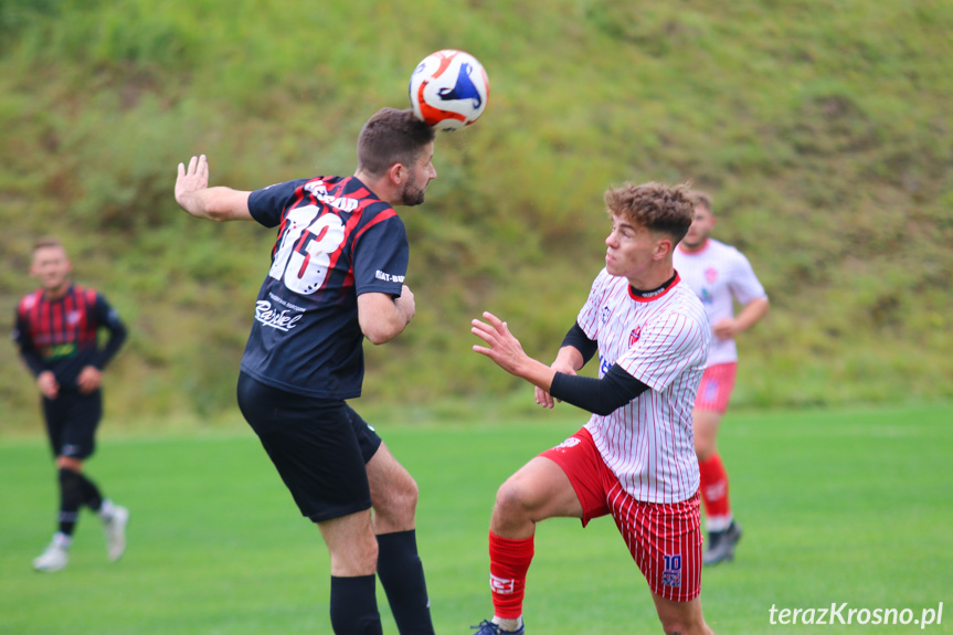
[[(188, 219), (176, 165), (205, 152), (241, 189), (350, 173), (363, 120), (460, 47), (490, 105), (441, 135), (427, 203), (402, 212), (417, 318), (369, 351), (371, 401), (511, 392), (469, 352), (483, 309), (551, 358), (624, 180), (712, 192), (718, 236), (767, 287), (737, 404), (949, 399), (951, 29), (930, 0), (6, 0), (0, 316), (32, 288), (32, 240), (60, 235), (131, 327), (110, 416), (232, 408), (274, 236)], [(0, 401), (4, 422), (35, 420), (9, 341)]]

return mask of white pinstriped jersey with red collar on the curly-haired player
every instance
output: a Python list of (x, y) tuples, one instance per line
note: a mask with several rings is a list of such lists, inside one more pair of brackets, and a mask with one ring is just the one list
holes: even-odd
[(690, 498), (699, 484), (691, 409), (711, 339), (701, 303), (677, 276), (643, 297), (603, 269), (578, 322), (599, 342), (600, 378), (617, 363), (649, 387), (585, 424), (606, 466), (637, 500)]

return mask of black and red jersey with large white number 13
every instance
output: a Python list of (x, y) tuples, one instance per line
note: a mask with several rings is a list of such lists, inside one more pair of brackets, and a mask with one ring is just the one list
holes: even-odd
[(252, 216), (278, 227), (242, 370), (275, 388), (360, 396), (358, 296), (400, 296), (410, 246), (403, 221), (354, 177), (316, 177), (252, 192)]

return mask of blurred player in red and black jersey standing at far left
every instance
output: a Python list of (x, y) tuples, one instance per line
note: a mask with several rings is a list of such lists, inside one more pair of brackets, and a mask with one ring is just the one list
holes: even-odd
[[(104, 499), (83, 474), (83, 462), (93, 454), (103, 416), (103, 369), (126, 340), (126, 327), (106, 298), (72, 283), (72, 271), (60, 241), (36, 241), (30, 274), (40, 281), (40, 288), (20, 300), (13, 329), (20, 356), (36, 377), (42, 394), (60, 480), (59, 528), (46, 550), (33, 560), (38, 571), (66, 567), (83, 505), (103, 520), (109, 560), (118, 560), (126, 550), (129, 511)], [(102, 350), (100, 328), (109, 331)]]

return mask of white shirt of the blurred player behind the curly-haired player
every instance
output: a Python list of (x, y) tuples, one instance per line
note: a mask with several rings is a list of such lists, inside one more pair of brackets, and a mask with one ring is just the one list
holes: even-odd
[[(701, 299), (712, 325), (734, 317), (734, 300), (746, 305), (767, 297), (744, 254), (714, 239), (708, 239), (699, 252), (686, 252), (679, 245), (673, 261), (675, 271)], [(738, 347), (734, 340), (712, 338), (708, 366), (735, 361)]]

